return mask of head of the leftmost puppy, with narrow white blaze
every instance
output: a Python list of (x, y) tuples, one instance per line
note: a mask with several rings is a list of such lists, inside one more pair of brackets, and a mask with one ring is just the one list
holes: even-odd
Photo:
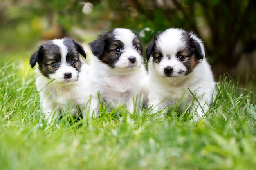
[(40, 73), (56, 82), (77, 81), (81, 68), (79, 53), (86, 58), (83, 47), (70, 38), (54, 39), (42, 44), (30, 57), (30, 66), (38, 63)]

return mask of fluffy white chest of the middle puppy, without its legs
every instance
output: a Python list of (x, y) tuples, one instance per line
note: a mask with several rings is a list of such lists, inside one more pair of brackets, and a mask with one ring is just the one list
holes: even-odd
[[(94, 65), (95, 64), (95, 65)], [(105, 102), (114, 102), (117, 104), (125, 104), (132, 97), (142, 94), (143, 79), (146, 76), (144, 66), (134, 71), (117, 72), (106, 67), (101, 62), (92, 64), (90, 71), (90, 79), (93, 87), (90, 92), (92, 96), (96, 96), (98, 91), (100, 97)], [(97, 65), (101, 65), (101, 70), (97, 69)]]

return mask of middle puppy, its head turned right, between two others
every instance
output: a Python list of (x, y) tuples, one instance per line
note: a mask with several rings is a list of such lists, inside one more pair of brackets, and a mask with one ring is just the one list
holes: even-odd
[(91, 115), (99, 114), (98, 91), (101, 102), (110, 106), (125, 104), (127, 110), (134, 113), (141, 102), (141, 95), (145, 95), (147, 74), (139, 36), (129, 29), (116, 28), (103, 32), (90, 43), (90, 47), (95, 56), (90, 65), (88, 92), (92, 95)]

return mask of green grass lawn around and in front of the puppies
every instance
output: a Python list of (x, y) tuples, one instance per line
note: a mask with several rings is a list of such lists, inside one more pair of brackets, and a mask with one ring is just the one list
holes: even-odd
[(147, 109), (134, 117), (117, 106), (88, 121), (64, 115), (43, 130), (28, 65), (28, 59), (0, 63), (1, 170), (256, 169), (255, 80), (242, 87), (220, 77), (216, 99), (197, 122), (174, 113), (155, 119)]

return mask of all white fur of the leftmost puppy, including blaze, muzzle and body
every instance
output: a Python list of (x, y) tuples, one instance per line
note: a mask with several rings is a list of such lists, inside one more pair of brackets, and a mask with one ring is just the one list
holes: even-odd
[[(86, 88), (88, 84), (88, 78), (86, 75), (87, 64), (79, 58), (81, 61), (81, 68), (78, 72), (74, 67), (70, 66), (66, 62), (67, 47), (63, 44), (63, 39), (55, 39), (53, 43), (61, 49), (61, 66), (53, 74), (49, 75), (49, 78), (42, 75), (36, 66), (36, 88), (40, 95), (40, 104), (42, 113), (45, 115), (45, 119), (50, 123), (56, 119), (61, 112), (71, 111), (73, 116), (76, 116), (78, 112), (76, 106), (79, 106), (82, 111), (83, 117), (85, 117), (85, 105)], [(72, 73), (72, 78), (64, 79), (64, 73)]]

